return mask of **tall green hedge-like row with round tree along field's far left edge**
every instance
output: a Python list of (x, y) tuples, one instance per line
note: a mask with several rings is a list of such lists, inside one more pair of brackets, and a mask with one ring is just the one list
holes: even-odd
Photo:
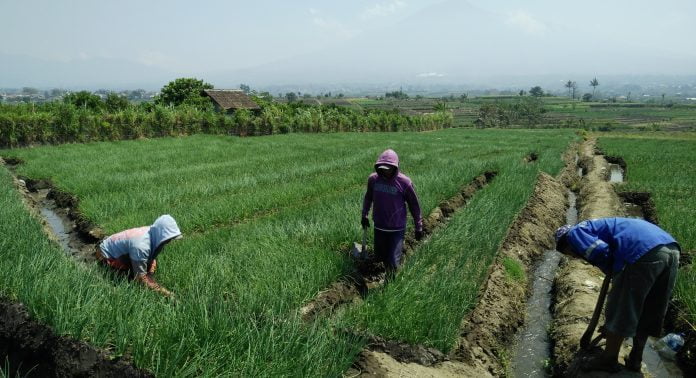
[(202, 88), (208, 86), (202, 81), (175, 80), (163, 88), (154, 103), (137, 105), (116, 94), (102, 100), (86, 91), (67, 95), (62, 102), (0, 104), (0, 146), (196, 133), (251, 136), (291, 132), (424, 131), (449, 128), (453, 123), (449, 111), (408, 116), (398, 111), (355, 110), (336, 105), (281, 104), (272, 102), (270, 96), (253, 96), (261, 106), (260, 111), (238, 110), (227, 115), (213, 111), (210, 99), (201, 96)]

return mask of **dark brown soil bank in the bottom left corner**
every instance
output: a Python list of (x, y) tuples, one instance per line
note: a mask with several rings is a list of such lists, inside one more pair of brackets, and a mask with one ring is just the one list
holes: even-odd
[(0, 356), (8, 376), (150, 377), (126, 359), (110, 359), (89, 344), (56, 336), (24, 306), (0, 299)]

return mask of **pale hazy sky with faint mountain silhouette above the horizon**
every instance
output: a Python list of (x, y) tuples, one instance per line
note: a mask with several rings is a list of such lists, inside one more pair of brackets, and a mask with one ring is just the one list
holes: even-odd
[(692, 75), (695, 15), (693, 0), (0, 0), (0, 87)]

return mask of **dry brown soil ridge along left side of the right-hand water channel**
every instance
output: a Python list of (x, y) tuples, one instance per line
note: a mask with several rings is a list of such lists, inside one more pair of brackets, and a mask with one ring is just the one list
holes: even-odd
[(478, 305), (463, 320), (458, 344), (449, 356), (422, 346), (387, 342), (385, 347), (372, 342), (345, 376), (505, 375), (502, 356), (524, 322), (527, 287), (507, 278), (502, 261), (513, 259), (531, 272), (534, 260), (553, 248), (553, 231), (563, 222), (565, 205), (563, 184), (541, 173), (527, 206), (508, 230)]

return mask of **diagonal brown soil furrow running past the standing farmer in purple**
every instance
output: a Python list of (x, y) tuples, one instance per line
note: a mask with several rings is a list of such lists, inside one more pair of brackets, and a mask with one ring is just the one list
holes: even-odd
[[(495, 172), (485, 172), (474, 178), (471, 183), (462, 188), (455, 196), (441, 202), (428, 217), (423, 219), (424, 237), (432, 234), (438, 227), (445, 224), (457, 209), (464, 206), (469, 198), (488, 185), (495, 176)], [(419, 242), (415, 240), (413, 235), (408, 235), (404, 240), (404, 258), (408, 257), (418, 244)], [(353, 272), (332, 283), (304, 305), (300, 309), (300, 315), (305, 321), (309, 322), (317, 316), (331, 313), (343, 305), (358, 302), (361, 300), (361, 296), (367, 294), (368, 290), (382, 285), (384, 278), (384, 266), (377, 260), (374, 254), (369, 254), (367, 260), (355, 262)]]

